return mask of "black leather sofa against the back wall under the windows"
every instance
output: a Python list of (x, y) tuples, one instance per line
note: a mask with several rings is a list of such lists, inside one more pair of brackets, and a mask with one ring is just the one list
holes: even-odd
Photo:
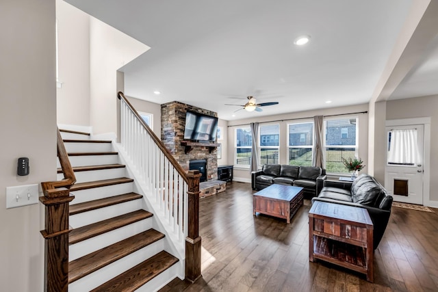
[(251, 173), (251, 186), (259, 191), (273, 183), (294, 185), (303, 187), (305, 195), (316, 196), (325, 179), (326, 170), (315, 166), (265, 164), (261, 170)]

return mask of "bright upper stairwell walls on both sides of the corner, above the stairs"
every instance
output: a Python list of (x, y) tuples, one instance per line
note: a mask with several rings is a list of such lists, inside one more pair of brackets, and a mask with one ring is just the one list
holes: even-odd
[[(116, 133), (117, 70), (149, 49), (62, 0), (57, 0), (57, 123)], [(120, 75), (123, 76), (123, 75)]]

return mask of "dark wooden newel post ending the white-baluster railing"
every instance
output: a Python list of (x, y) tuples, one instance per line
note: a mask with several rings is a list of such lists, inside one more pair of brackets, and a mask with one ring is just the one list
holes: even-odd
[(199, 236), (199, 178), (198, 170), (189, 170), (188, 178), (188, 235), (185, 237), (185, 279), (194, 282), (201, 277), (201, 237)]

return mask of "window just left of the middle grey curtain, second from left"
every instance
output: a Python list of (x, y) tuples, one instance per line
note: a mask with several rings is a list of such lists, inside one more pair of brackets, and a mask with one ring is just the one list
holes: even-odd
[(280, 125), (260, 126), (259, 133), (260, 164), (279, 164)]

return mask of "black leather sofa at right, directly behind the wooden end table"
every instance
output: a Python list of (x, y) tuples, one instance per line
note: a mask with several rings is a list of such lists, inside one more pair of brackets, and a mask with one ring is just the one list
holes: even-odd
[(353, 182), (326, 180), (312, 203), (317, 200), (367, 209), (374, 225), (374, 250), (377, 248), (391, 215), (392, 196), (374, 177), (361, 174)]

